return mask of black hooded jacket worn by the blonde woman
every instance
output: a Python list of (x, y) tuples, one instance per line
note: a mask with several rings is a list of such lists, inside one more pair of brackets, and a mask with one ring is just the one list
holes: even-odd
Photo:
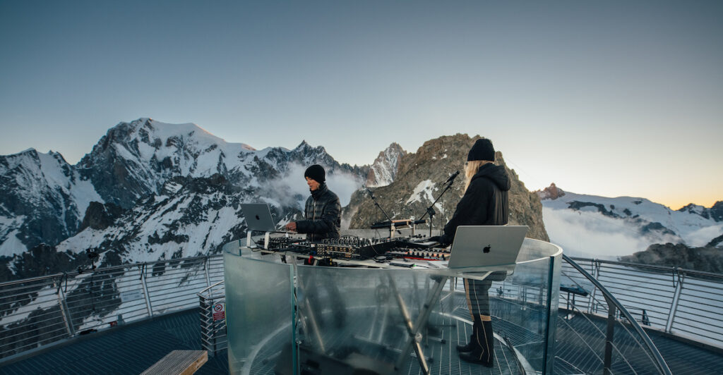
[(472, 177), (469, 188), (445, 225), (440, 242), (450, 244), (461, 225), (505, 225), (509, 215), (510, 178), (505, 167), (484, 164)]

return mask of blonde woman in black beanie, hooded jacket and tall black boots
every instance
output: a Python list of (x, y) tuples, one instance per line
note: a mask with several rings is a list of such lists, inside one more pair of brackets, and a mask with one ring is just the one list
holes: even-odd
[[(510, 178), (505, 167), (495, 165), (492, 141), (478, 139), (469, 150), (464, 167), (465, 188), (452, 219), (445, 225), (438, 239), (442, 244), (452, 243), (457, 227), (461, 225), (505, 225), (508, 221), (508, 191)], [(495, 275), (493, 273), (492, 275)], [(504, 278), (504, 273), (500, 275)], [(495, 278), (497, 280), (498, 278)], [(494, 337), (489, 312), (489, 287), (492, 281), (464, 279), (467, 305), (474, 324), (467, 345), (457, 345), (463, 361), (494, 365)]]

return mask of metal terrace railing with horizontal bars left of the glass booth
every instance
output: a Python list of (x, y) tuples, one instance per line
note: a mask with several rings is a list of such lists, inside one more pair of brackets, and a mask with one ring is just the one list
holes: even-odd
[(218, 281), (221, 255), (0, 283), (0, 362), (97, 330), (197, 308), (197, 292)]

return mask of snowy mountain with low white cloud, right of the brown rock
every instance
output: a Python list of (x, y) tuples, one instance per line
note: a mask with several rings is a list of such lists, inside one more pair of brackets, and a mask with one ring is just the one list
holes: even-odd
[(568, 255), (615, 259), (651, 244), (723, 245), (714, 241), (723, 234), (723, 202), (674, 211), (645, 198), (569, 193), (554, 184), (537, 193), (550, 241)]

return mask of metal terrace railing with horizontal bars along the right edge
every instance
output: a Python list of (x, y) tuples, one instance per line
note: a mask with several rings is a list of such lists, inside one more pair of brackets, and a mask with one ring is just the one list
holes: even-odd
[[(641, 325), (723, 348), (723, 274), (571, 259), (616, 296)], [(568, 269), (563, 267), (563, 272)], [(576, 299), (576, 308), (604, 312), (604, 304), (589, 299)]]

